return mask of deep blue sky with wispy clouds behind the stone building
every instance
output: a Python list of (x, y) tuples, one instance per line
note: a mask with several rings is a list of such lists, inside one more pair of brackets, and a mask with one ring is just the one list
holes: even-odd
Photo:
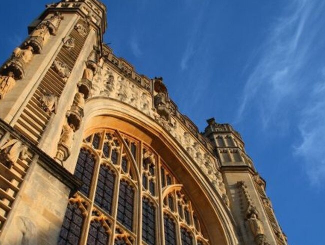
[[(103, 2), (114, 53), (162, 76), (200, 130), (210, 117), (231, 123), (290, 244), (325, 244), (325, 1)], [(46, 3), (0, 9), (1, 61)]]

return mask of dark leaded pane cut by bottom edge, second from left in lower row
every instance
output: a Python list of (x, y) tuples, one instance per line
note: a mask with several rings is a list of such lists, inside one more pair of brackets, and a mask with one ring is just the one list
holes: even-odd
[(89, 227), (87, 245), (107, 245), (108, 239), (109, 235), (101, 223), (92, 221)]

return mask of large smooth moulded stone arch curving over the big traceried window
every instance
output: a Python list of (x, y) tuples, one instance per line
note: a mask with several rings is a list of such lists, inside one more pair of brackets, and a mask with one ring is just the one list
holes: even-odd
[[(211, 244), (238, 243), (235, 221), (220, 194), (166, 130), (144, 113), (117, 100), (102, 97), (88, 99), (81, 125), (83, 134), (103, 126), (141, 138), (162, 159), (169, 159), (168, 168), (185, 186), (186, 195), (201, 219), (201, 232), (207, 234)], [(202, 206), (204, 210), (200, 208)]]

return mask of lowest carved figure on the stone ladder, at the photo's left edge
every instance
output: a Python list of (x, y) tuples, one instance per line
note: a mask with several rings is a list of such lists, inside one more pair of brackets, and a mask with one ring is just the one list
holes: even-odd
[(27, 158), (27, 147), (17, 139), (10, 139), (0, 147), (0, 161), (11, 167), (20, 157)]

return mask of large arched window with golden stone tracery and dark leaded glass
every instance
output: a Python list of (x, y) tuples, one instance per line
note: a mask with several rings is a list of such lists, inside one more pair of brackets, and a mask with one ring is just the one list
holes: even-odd
[[(83, 140), (58, 244), (209, 245), (186, 186), (153, 149), (124, 133)], [(184, 188), (184, 189), (183, 189)]]

